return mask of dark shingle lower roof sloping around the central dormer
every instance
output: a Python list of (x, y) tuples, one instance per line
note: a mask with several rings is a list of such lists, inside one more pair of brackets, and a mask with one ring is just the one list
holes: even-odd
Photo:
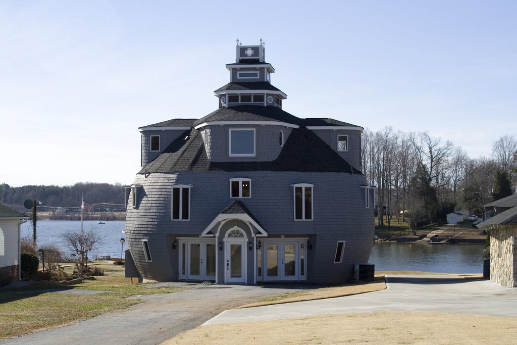
[[(269, 108), (269, 107), (268, 107)], [(292, 115), (291, 115), (292, 116)], [(185, 139), (185, 137), (187, 137)], [(305, 128), (293, 129), (273, 161), (212, 162), (207, 158), (199, 130), (179, 136), (139, 174), (179, 171), (297, 171), (362, 174), (333, 151), (320, 137)]]

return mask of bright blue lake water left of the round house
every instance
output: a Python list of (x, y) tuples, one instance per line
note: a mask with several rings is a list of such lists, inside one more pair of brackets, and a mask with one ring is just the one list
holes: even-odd
[[(83, 230), (94, 230), (102, 236), (101, 241), (88, 253), (89, 258), (96, 255), (109, 255), (111, 257), (120, 257), (120, 238), (126, 237), (121, 231), (126, 228), (125, 221), (106, 221), (105, 224), (99, 224), (98, 220), (83, 221)], [(81, 231), (80, 220), (39, 220), (36, 226), (36, 238), (38, 247), (55, 244), (63, 250), (67, 256), (72, 252), (67, 248), (61, 234), (67, 231)], [(33, 226), (32, 222), (27, 221), (22, 224), (21, 235), (32, 238)], [(124, 244), (124, 250), (127, 249), (127, 243)]]

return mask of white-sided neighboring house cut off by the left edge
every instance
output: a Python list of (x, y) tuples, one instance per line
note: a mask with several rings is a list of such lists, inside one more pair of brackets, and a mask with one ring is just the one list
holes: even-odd
[(20, 224), (27, 218), (0, 204), (0, 281), (20, 280)]

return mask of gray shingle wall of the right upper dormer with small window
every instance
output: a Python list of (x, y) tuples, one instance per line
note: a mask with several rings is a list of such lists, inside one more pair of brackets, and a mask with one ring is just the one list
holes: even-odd
[[(361, 170), (361, 134), (359, 131), (322, 129), (313, 130), (313, 132), (354, 168)], [(338, 151), (338, 135), (348, 136), (348, 151)]]

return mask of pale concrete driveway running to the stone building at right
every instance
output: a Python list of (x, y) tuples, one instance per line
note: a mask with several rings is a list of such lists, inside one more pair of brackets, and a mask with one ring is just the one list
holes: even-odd
[(390, 275), (388, 289), (353, 296), (226, 310), (203, 325), (379, 311), (517, 318), (517, 289), (450, 275)]

